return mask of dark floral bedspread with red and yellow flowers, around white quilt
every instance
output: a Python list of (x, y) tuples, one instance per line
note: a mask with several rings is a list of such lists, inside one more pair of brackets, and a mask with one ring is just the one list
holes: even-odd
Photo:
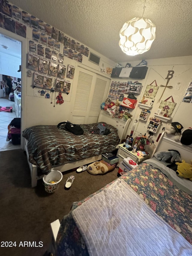
[[(192, 197), (189, 194), (177, 188), (159, 169), (147, 163), (140, 164), (119, 179), (127, 182), (160, 218), (192, 244)], [(61, 221), (57, 236), (58, 256), (89, 255), (71, 212), (103, 189), (82, 201), (73, 203), (70, 213)]]

